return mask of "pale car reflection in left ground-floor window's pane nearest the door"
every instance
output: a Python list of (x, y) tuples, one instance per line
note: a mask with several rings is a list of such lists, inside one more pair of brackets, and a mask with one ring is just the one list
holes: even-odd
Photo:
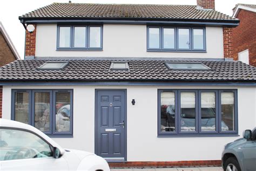
[(56, 114), (56, 131), (70, 131), (70, 105), (59, 108)]

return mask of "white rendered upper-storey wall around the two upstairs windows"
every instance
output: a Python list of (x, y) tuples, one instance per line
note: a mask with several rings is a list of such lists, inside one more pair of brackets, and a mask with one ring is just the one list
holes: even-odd
[(103, 25), (103, 51), (56, 51), (57, 25), (38, 24), (36, 57), (223, 58), (223, 28), (206, 27), (207, 53), (147, 52), (146, 25)]

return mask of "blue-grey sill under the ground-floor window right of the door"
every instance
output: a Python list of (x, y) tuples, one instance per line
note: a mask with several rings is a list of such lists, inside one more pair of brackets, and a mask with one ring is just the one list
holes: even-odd
[(177, 138), (177, 137), (228, 137), (228, 136), (240, 136), (238, 134), (158, 134), (158, 138)]

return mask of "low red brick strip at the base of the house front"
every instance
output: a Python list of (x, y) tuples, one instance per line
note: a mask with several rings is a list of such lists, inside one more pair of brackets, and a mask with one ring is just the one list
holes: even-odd
[(135, 161), (124, 163), (109, 163), (110, 168), (149, 168), (149, 167), (198, 167), (198, 166), (221, 166), (221, 160), (199, 161)]

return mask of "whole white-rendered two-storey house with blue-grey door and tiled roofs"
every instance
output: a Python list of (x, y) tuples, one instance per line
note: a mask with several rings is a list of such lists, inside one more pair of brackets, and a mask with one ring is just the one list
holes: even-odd
[(256, 68), (233, 60), (239, 20), (197, 3), (53, 3), (20, 16), (25, 60), (0, 69), (2, 117), (112, 167), (220, 165), (256, 124)]

